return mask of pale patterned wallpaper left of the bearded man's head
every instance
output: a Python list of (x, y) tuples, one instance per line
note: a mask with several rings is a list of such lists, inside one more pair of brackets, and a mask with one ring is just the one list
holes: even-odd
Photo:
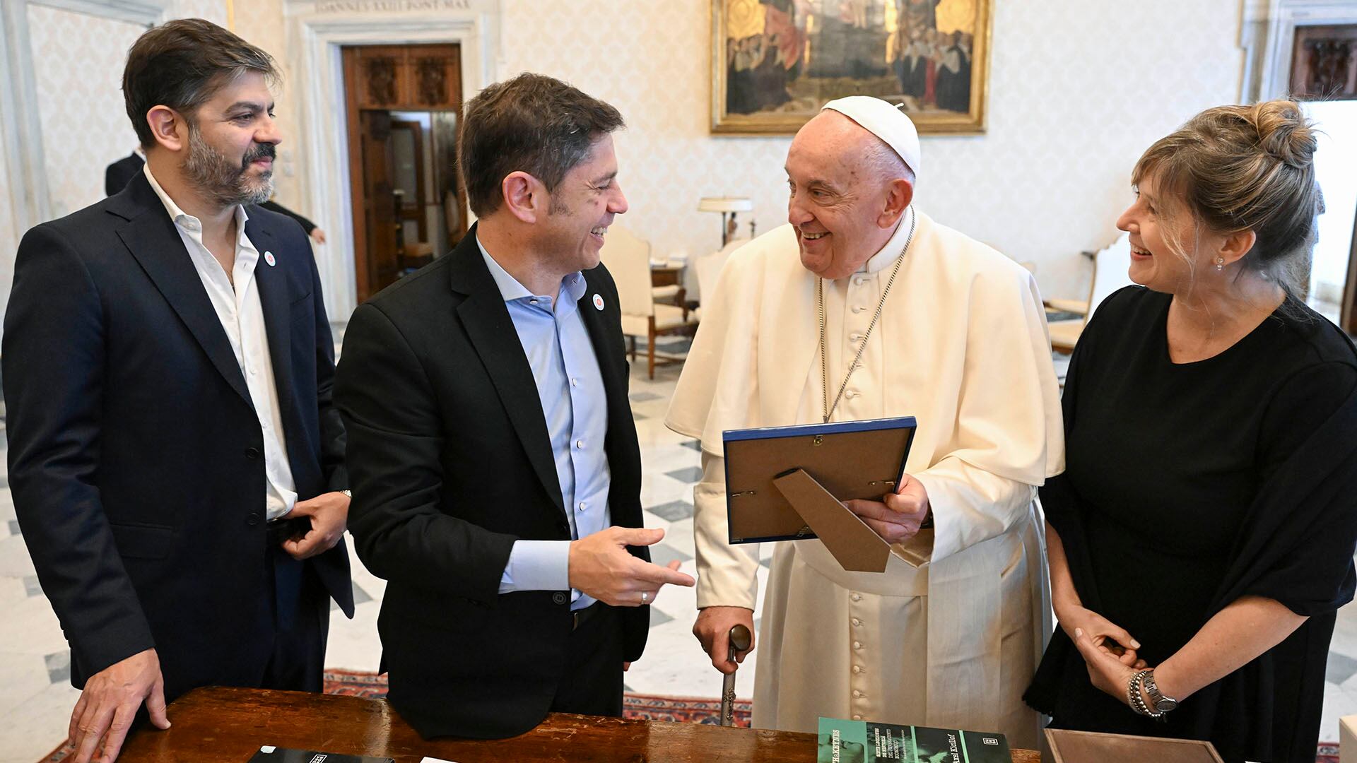
[(43, 159), (56, 217), (103, 198), (103, 170), (132, 153), (122, 68), (142, 27), (28, 5)]

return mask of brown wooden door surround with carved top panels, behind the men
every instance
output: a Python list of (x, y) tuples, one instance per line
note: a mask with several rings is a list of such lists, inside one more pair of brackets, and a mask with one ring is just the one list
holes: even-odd
[[(358, 301), (362, 303), (400, 276), (395, 228), (398, 210), (391, 193), (394, 164), (388, 111), (455, 111), (460, 118), (461, 48), (347, 46), (342, 49), (342, 60), (349, 125), (354, 274)], [(377, 117), (369, 117), (379, 113), (385, 117), (385, 122), (380, 125)], [(368, 176), (369, 172), (372, 176)], [(461, 205), (463, 196), (460, 189), (457, 191), (456, 202)]]

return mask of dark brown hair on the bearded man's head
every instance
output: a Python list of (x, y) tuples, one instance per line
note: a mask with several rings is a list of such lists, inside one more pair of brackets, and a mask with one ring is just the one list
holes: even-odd
[(156, 138), (147, 111), (168, 106), (191, 118), (218, 90), (247, 72), (277, 84), (278, 67), (259, 48), (204, 19), (176, 19), (142, 34), (128, 52), (122, 99), (142, 148)]

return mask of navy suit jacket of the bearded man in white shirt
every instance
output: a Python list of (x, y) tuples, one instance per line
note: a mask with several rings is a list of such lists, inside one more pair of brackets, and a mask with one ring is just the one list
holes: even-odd
[[(247, 209), (300, 500), (347, 487), (311, 247)], [(273, 650), (263, 436), (189, 253), (145, 175), (24, 235), (4, 322), (9, 486), (71, 641), (71, 682), (155, 648), (166, 694), (250, 686)], [(288, 558), (288, 563), (297, 563)], [(307, 562), (345, 612), (343, 544)], [(300, 578), (300, 576), (297, 576)]]

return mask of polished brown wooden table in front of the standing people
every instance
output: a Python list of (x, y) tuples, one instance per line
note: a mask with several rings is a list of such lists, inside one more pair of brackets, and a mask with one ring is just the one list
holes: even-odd
[[(170, 730), (141, 728), (119, 762), (246, 763), (259, 745), (456, 763), (814, 763), (814, 734), (551, 714), (503, 740), (425, 741), (384, 699), (252, 688), (198, 688), (170, 705)], [(1014, 763), (1041, 763), (1015, 751)]]

